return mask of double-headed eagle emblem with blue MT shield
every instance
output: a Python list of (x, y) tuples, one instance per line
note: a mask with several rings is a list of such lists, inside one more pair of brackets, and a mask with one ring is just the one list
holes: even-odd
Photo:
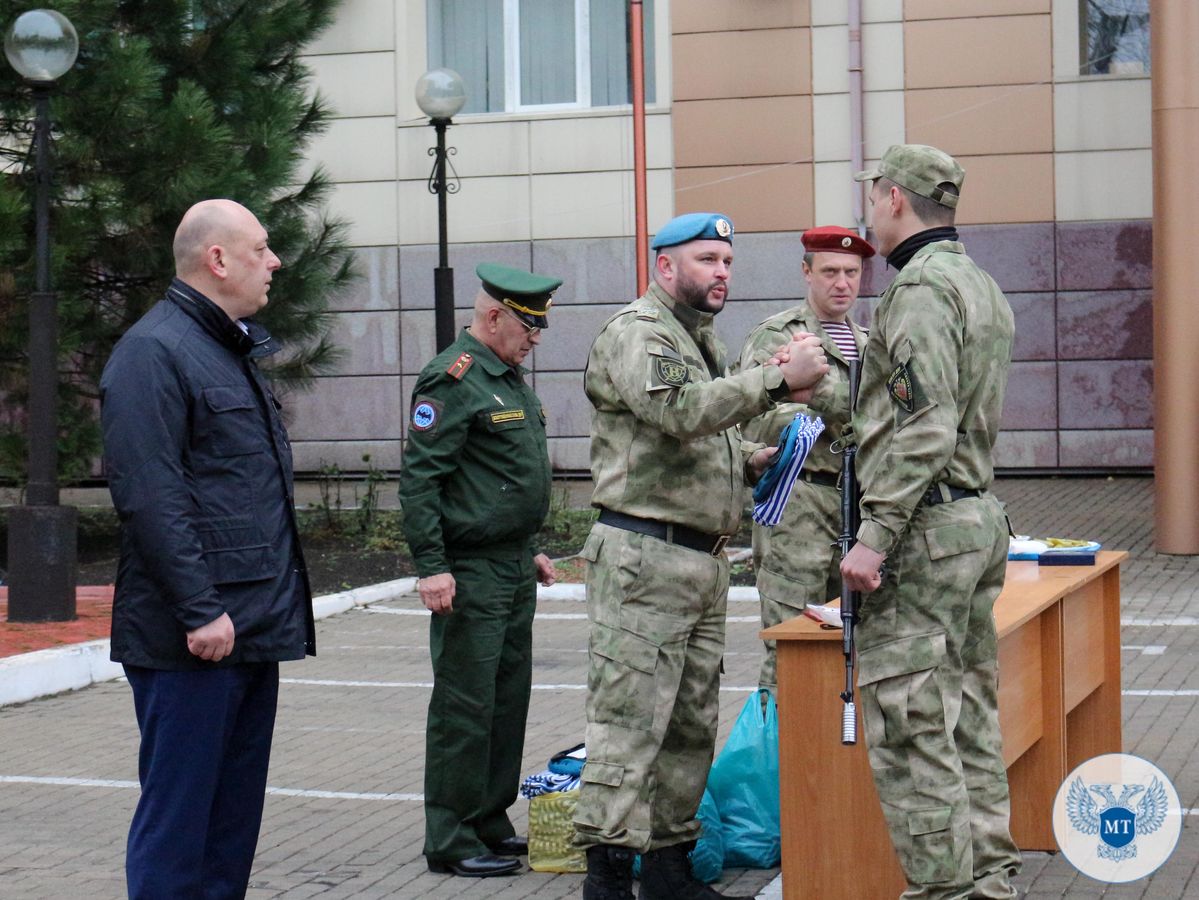
[(1137, 856), (1137, 838), (1162, 827), (1169, 802), (1156, 775), (1147, 787), (1120, 785), (1119, 797), (1115, 787), (1111, 784), (1087, 785), (1076, 778), (1066, 795), (1066, 814), (1072, 828), (1098, 835), (1096, 852), (1101, 859), (1119, 863)]

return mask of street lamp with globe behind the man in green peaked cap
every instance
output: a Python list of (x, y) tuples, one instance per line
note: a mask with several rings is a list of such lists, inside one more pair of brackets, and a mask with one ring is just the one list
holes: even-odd
[[(438, 145), (429, 147), (433, 171), (429, 174), (429, 193), (438, 195), (438, 267), (433, 270), (433, 308), (436, 322), (438, 352), (453, 343), (453, 270), (450, 267), (450, 249), (446, 232), (446, 194), (457, 194), (460, 182), (450, 157), (458, 151), (446, 149), (446, 128), (466, 102), (462, 75), (452, 68), (433, 68), (416, 83), (416, 105), (429, 117), (438, 133)], [(450, 181), (447, 173), (453, 175)]]

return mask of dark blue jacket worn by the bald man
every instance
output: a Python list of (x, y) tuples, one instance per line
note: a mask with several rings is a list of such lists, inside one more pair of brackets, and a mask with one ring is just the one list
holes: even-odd
[[(254, 363), (278, 348), (246, 325), (176, 278), (104, 367), (104, 465), (121, 520), (115, 662), (204, 669), (315, 653), (291, 448)], [(205, 663), (187, 632), (222, 612), (234, 650)]]

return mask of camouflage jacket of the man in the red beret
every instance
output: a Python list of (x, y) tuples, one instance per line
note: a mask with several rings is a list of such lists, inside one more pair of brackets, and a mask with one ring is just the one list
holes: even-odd
[[(854, 332), (857, 354), (861, 356), (866, 346), (866, 331), (858, 325), (848, 322)], [(825, 424), (824, 431), (808, 452), (803, 463), (806, 472), (837, 475), (840, 472), (840, 457), (832, 452), (833, 441), (840, 437), (849, 424), (849, 362), (842, 356), (836, 342), (829, 337), (820, 325), (817, 314), (807, 303), (800, 303), (764, 321), (746, 338), (741, 348), (739, 368), (747, 372), (761, 366), (778, 349), (800, 332), (808, 332), (820, 338), (825, 356), (829, 357), (829, 374), (817, 382), (812, 400), (803, 405), (781, 403), (741, 427), (741, 434), (747, 441), (757, 441), (773, 447), (783, 428), (795, 418), (796, 412), (819, 416)]]

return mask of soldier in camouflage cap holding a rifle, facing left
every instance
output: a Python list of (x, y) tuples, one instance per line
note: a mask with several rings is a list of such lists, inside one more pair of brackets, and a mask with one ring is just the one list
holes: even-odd
[[(999, 733), (992, 608), (1007, 567), (990, 493), (1012, 310), (953, 228), (965, 173), (890, 147), (869, 180), (898, 270), (866, 346), (854, 433), (862, 525), (842, 572), (866, 592), (857, 684), (870, 771), (904, 898), (1016, 896), (1020, 853)], [(886, 560), (885, 575), (879, 567)]]

